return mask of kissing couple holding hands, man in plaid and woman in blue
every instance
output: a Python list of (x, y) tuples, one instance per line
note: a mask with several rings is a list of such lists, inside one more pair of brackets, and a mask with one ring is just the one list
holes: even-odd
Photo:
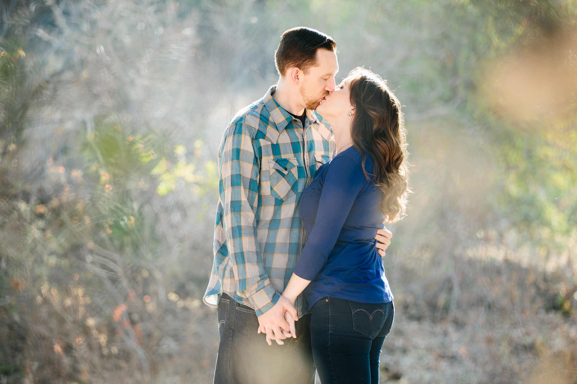
[[(357, 67), (336, 84), (336, 43), (284, 32), (278, 84), (243, 108), (218, 152), (215, 384), (379, 383), (394, 318), (383, 224), (409, 190), (399, 100)], [(327, 124), (328, 123), (328, 124)]]

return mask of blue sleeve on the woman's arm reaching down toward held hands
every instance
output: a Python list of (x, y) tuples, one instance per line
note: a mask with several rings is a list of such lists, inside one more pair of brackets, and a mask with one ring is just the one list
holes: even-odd
[(337, 156), (327, 167), (314, 227), (293, 271), (305, 280), (313, 280), (323, 268), (366, 183), (361, 166), (349, 156)]

